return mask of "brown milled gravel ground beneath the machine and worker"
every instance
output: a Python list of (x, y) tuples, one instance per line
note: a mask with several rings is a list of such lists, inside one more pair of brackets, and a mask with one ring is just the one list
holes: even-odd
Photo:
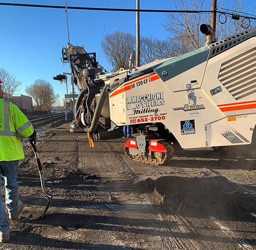
[(234, 158), (186, 150), (152, 166), (127, 158), (121, 138), (90, 148), (65, 120), (36, 131), (52, 203), (42, 219), (47, 199), (24, 140), (18, 182), (25, 207), (0, 249), (256, 248), (256, 162), (244, 150)]

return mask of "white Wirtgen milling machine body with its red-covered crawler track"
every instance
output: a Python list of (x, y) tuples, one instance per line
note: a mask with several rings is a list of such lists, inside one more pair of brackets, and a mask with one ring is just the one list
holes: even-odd
[(125, 143), (126, 155), (136, 161), (163, 164), (175, 142), (183, 149), (250, 144), (256, 28), (107, 81), (111, 121), (141, 128), (136, 140)]

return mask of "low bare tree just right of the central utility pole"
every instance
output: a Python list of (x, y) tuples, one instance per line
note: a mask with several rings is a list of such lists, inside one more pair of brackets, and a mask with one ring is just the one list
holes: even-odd
[(141, 64), (153, 62), (157, 59), (172, 57), (172, 44), (169, 40), (159, 40), (158, 38), (141, 37)]

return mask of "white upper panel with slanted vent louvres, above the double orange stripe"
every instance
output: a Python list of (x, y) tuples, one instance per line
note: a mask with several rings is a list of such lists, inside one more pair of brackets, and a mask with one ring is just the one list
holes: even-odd
[[(220, 109), (226, 112), (228, 109), (222, 107), (228, 103), (256, 100), (255, 72), (256, 37), (253, 37), (211, 58), (208, 61), (202, 87)], [(241, 109), (240, 112), (244, 111)]]

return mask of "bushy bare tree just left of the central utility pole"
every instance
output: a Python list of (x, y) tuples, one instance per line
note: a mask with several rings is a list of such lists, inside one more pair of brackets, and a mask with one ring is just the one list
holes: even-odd
[(101, 42), (101, 47), (113, 71), (129, 68), (129, 59), (135, 49), (136, 39), (131, 33), (115, 31), (108, 34)]

